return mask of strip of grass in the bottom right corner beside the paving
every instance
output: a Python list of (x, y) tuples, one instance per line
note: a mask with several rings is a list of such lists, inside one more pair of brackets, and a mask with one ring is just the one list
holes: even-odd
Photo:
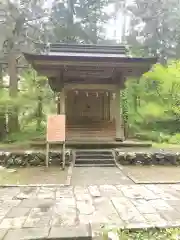
[(112, 230), (103, 233), (103, 240), (178, 240), (180, 228), (147, 230)]

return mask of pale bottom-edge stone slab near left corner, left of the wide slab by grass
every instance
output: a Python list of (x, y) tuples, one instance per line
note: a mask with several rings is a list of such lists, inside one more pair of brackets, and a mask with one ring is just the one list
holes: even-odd
[(49, 228), (22, 228), (9, 230), (3, 240), (37, 240), (46, 239), (49, 234)]

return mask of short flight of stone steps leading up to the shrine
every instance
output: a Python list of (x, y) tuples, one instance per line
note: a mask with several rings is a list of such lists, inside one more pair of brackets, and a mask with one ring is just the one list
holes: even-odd
[(114, 167), (112, 150), (83, 149), (74, 151), (75, 167)]

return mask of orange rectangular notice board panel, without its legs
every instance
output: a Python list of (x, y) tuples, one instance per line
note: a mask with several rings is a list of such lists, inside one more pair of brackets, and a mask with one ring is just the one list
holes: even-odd
[(65, 142), (65, 115), (50, 115), (47, 119), (47, 142)]

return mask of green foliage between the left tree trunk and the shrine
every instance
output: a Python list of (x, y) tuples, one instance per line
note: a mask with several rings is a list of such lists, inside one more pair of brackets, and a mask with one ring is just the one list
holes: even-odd
[(47, 106), (50, 106), (54, 100), (48, 81), (45, 77), (37, 76), (34, 71), (25, 71), (22, 74), (20, 87), (18, 106), (21, 129), (36, 121), (36, 130), (39, 130), (46, 120)]

